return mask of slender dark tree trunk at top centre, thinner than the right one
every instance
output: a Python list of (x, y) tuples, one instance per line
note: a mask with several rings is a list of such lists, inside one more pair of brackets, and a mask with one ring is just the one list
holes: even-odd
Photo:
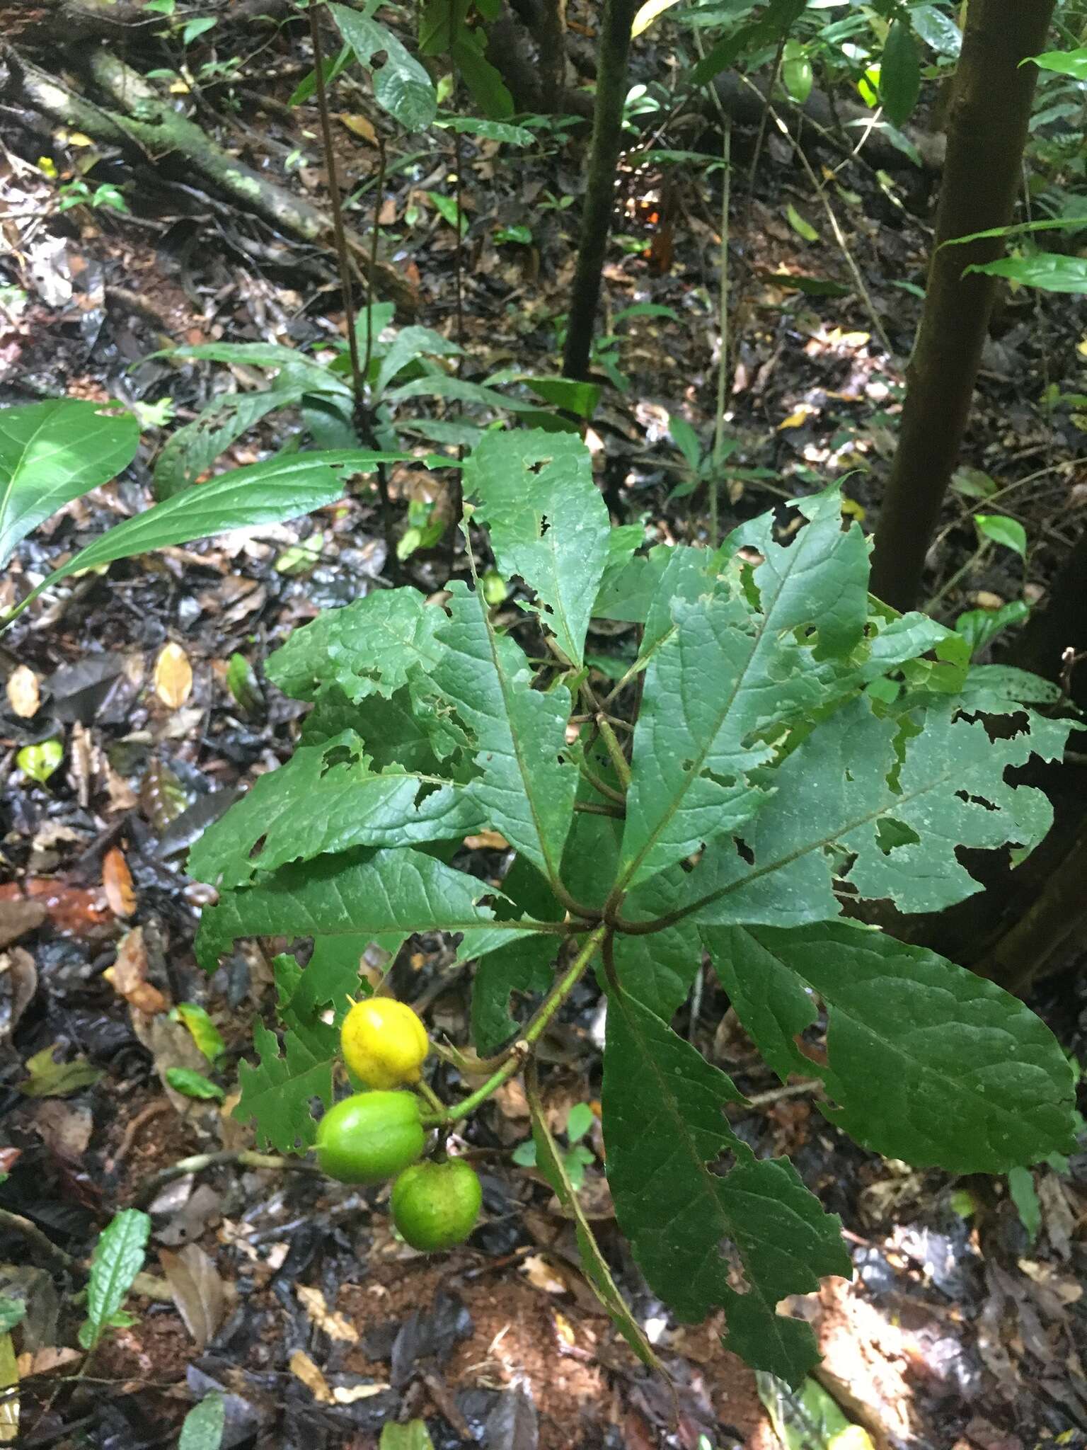
[(604, 270), (604, 254), (615, 209), (615, 174), (623, 139), (626, 59), (630, 54), (630, 26), (636, 10), (638, 0), (604, 0), (600, 17), (600, 64), (593, 110), (588, 183), (581, 213), (577, 271), (570, 297), (567, 347), (562, 355), (565, 377), (584, 378), (588, 376), (593, 323), (600, 302), (600, 274)]

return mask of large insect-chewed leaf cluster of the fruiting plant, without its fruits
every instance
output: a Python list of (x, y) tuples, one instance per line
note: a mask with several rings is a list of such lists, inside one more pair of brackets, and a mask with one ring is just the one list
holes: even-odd
[[(526, 431), (481, 439), (464, 497), (475, 548), (522, 581), (515, 631), (475, 580), (441, 605), (372, 593), (299, 629), (267, 663), (313, 702), (299, 750), (261, 777), (259, 808), (254, 792), (191, 853), (219, 887), (197, 937), (207, 969), (246, 935), (315, 942), (304, 970), (275, 963), (284, 1040), (258, 1028), (238, 1115), (281, 1151), (313, 1143), (338, 1045), (325, 1015), (357, 993), (368, 941), (396, 951), (446, 931), (478, 961), (472, 1035), (490, 1076), (425, 1111), (436, 1128), (526, 1061), (535, 1093), (535, 1044), (596, 969), (619, 1227), (683, 1320), (723, 1306), (728, 1344), (796, 1382), (815, 1341), (775, 1304), (851, 1272), (838, 1222), (784, 1159), (732, 1132), (723, 1108), (741, 1093), (671, 1018), (706, 950), (774, 1072), (817, 1074), (826, 1116), (865, 1147), (955, 1173), (1068, 1151), (1071, 1073), (1044, 1024), (841, 918), (846, 900), (939, 911), (978, 889), (959, 845), (1042, 838), (1048, 800), (1004, 774), (1059, 758), (1070, 724), (1032, 708), (1058, 692), (971, 667), (954, 631), (874, 602), (833, 489), (797, 502), (787, 547), (765, 515), (717, 551), (642, 555), (639, 528), (610, 528), (581, 441)], [(586, 664), (594, 616), (641, 625), (610, 687)], [(501, 886), (448, 864), (481, 828), (513, 848)], [(528, 1022), (513, 992), (544, 995)], [(804, 1037), (823, 1030), (828, 1058), (813, 1060)], [(575, 1202), (535, 1109), (533, 1134)], [(578, 1241), (646, 1353), (587, 1222)]]

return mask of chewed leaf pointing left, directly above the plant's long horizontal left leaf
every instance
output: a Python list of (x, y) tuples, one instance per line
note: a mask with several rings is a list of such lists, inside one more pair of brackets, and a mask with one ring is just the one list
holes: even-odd
[(374, 771), (362, 740), (345, 729), (258, 776), (196, 842), (188, 874), (229, 889), (288, 861), (461, 838), (483, 824), (467, 786), (396, 767)]

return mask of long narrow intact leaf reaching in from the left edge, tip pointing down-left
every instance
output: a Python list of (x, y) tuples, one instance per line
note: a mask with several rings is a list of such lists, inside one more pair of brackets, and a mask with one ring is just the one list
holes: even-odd
[(22, 613), (43, 589), (51, 589), (70, 574), (97, 568), (117, 558), (132, 558), (133, 554), (167, 548), (171, 544), (190, 544), (193, 539), (225, 534), (228, 529), (296, 519), (342, 497), (345, 486), (341, 474), (349, 477), (355, 473), (368, 473), (381, 461), (401, 457), (401, 454), (348, 448), (335, 452), (291, 454), (223, 473), (200, 484), (196, 492), (186, 489), (165, 503), (157, 503), (152, 509), (107, 529), (32, 589), (7, 615), (6, 624)]

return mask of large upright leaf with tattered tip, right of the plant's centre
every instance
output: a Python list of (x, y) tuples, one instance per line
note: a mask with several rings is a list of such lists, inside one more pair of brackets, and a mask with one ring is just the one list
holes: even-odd
[[(804, 499), (812, 522), (790, 548), (771, 518), (738, 529), (726, 550), (754, 545), (759, 612), (739, 593), (688, 602), (670, 587), (672, 629), (649, 660), (633, 737), (619, 886), (646, 880), (704, 841), (739, 828), (765, 796), (751, 773), (774, 755), (765, 735), (801, 718), (822, 696), (812, 647), (791, 632), (819, 629), (820, 651), (845, 652), (867, 619), (868, 555), (861, 529), (841, 526), (838, 493)], [(694, 554), (696, 551), (691, 551)], [(674, 566), (684, 566), (675, 555)], [(690, 580), (701, 577), (693, 560)], [(645, 638), (661, 634), (652, 612)], [(645, 651), (645, 644), (644, 644)]]

